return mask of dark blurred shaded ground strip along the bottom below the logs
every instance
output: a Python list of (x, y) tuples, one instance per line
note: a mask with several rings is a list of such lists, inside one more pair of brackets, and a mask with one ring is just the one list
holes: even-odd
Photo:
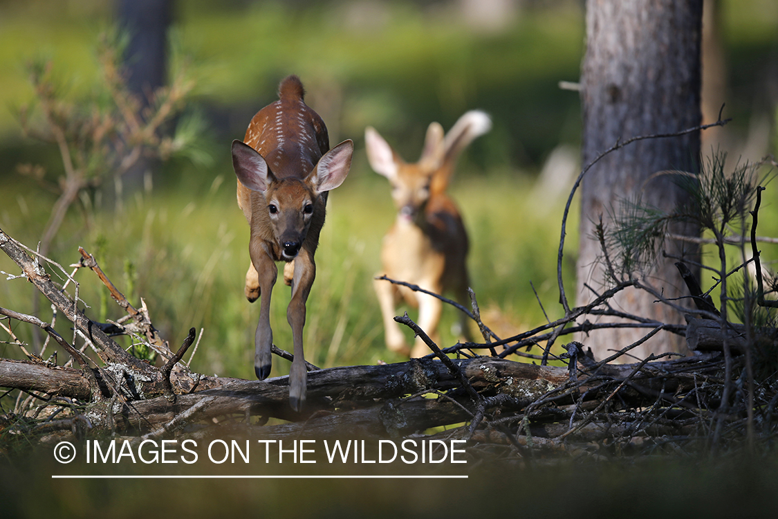
[[(79, 460), (81, 461), (81, 460)], [(60, 465), (50, 447), (0, 463), (2, 517), (775, 517), (774, 457), (538, 460), (532, 467), (200, 463)], [(257, 463), (257, 461), (259, 463)], [(321, 461), (321, 460), (320, 460)], [(96, 468), (96, 470), (95, 470)], [(441, 472), (443, 471), (443, 472)], [(468, 479), (52, 479), (53, 474), (457, 474)]]

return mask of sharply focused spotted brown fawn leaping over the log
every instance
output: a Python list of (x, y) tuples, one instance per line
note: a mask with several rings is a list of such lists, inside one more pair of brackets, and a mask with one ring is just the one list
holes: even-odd
[(329, 149), (327, 127), (307, 107), (304, 95), (300, 78), (284, 79), (279, 100), (259, 110), (248, 126), (245, 143), (235, 140), (232, 147), (238, 205), (251, 226), (246, 297), (254, 302), (261, 296), (254, 372), (259, 380), (270, 374), (270, 296), (278, 274), (275, 261), (286, 261), (284, 278), (292, 286), (286, 320), (294, 345), (289, 404), (296, 411), (306, 395), (305, 303), (316, 275), (314, 253), (324, 226), (327, 192), (349, 174), (354, 149), (351, 140)]

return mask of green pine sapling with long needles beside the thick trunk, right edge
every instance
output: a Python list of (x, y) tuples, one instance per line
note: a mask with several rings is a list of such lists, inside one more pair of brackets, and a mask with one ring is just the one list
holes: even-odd
[[(753, 444), (755, 412), (768, 409), (766, 421), (769, 423), (774, 405), (774, 402), (756, 403), (755, 388), (773, 384), (778, 366), (775, 362), (778, 331), (774, 310), (778, 304), (764, 297), (775, 293), (776, 286), (774, 276), (769, 275), (767, 289), (764, 287), (757, 247), (759, 241), (770, 240), (759, 238), (755, 233), (761, 192), (765, 189), (762, 184), (766, 184), (769, 177), (758, 179), (761, 163), (737, 163), (727, 171), (726, 161), (726, 153), (714, 153), (697, 175), (664, 172), (675, 175), (678, 184), (690, 195), (689, 204), (664, 212), (641, 205), (640, 199), (624, 202), (626, 210), (615, 216), (612, 230), (601, 228), (599, 231), (605, 261), (615, 282), (639, 274), (640, 268), (652, 263), (657, 254), (666, 254), (664, 240), (692, 240), (703, 247), (713, 247), (718, 259), (713, 265), (678, 258), (678, 261), (692, 263), (693, 268), (713, 272), (714, 283), (702, 293), (696, 282), (688, 279), (694, 277), (691, 271), (685, 265), (679, 266), (679, 270), (689, 272), (685, 281), (696, 308), (676, 306), (688, 315), (718, 323), (720, 351), (724, 353), (724, 386), (720, 416), (713, 427), (713, 445), (724, 434), (724, 416), (729, 412), (742, 412), (747, 416), (746, 437)], [(692, 223), (713, 237), (695, 239), (674, 235), (671, 233), (674, 222)], [(753, 277), (748, 270), (752, 261), (755, 266)], [(741, 277), (732, 278), (738, 272)], [(713, 306), (710, 298), (713, 289), (719, 293), (718, 307)], [(664, 303), (675, 304), (661, 299)], [(741, 321), (742, 328), (731, 321), (730, 315)]]

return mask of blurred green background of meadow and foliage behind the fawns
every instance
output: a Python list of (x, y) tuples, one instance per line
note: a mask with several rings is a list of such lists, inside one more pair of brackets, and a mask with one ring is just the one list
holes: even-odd
[[(578, 95), (559, 89), (558, 82), (575, 82), (579, 74), (581, 5), (524, 2), (499, 30), (474, 28), (456, 16), (454, 5), (175, 2), (171, 44), (177, 51), (171, 66), (184, 55), (192, 57), (196, 82), (195, 99), (177, 128), (181, 135), (201, 132), (208, 121), (210, 139), (189, 150), (188, 159), (159, 167), (152, 191), (115, 206), (106, 193), (90, 193), (89, 206), (96, 210), (86, 214), (86, 224), (77, 209), (71, 210), (52, 257), (68, 265), (77, 259), (79, 245), (100, 250), (105, 272), (124, 285), (120, 289), (131, 303), (138, 306), (139, 297), (145, 299), (155, 324), (174, 345), (190, 326), (205, 328), (196, 370), (252, 377), (258, 309), (243, 296), (248, 226), (235, 204), (228, 149), (232, 139), (243, 136), (254, 112), (275, 100), (279, 80), (294, 72), (307, 86), (309, 104), (328, 124), (331, 142), (356, 141), (352, 172), (331, 195), (317, 253), (320, 268), (306, 326), (311, 362), (398, 360), (382, 346), (370, 286), (379, 268), (380, 237), (394, 210), (386, 182), (366, 164), (362, 135), (368, 124), (414, 160), (429, 122), (449, 128), (471, 108), (492, 114), (492, 132), (465, 153), (452, 187), (471, 234), (473, 287), (485, 321), (502, 335), (545, 320), (530, 282), (548, 317), (558, 317), (555, 251), (563, 201), (542, 190), (534, 177), (552, 149), (574, 147), (579, 139)], [(19, 176), (16, 167), (42, 163), (53, 171), (58, 153), (19, 137), (14, 109), (32, 97), (24, 65), (51, 58), (65, 95), (89, 98), (100, 87), (95, 42), (112, 17), (110, 4), (98, 0), (0, 2), (0, 66), (6, 71), (0, 105), (11, 108), (0, 110), (0, 226), (25, 244), (40, 239), (54, 198)], [(738, 114), (731, 127), (743, 131), (755, 106), (770, 106), (759, 74), (767, 73), (765, 64), (776, 52), (778, 13), (765, 0), (721, 0), (720, 19), (729, 60), (725, 115)], [(209, 164), (208, 156), (216, 160)], [(562, 196), (567, 187), (560, 188)], [(775, 236), (769, 219), (762, 221), (763, 232)], [(575, 229), (569, 223), (568, 287)], [(0, 270), (15, 272), (7, 258), (0, 258)], [(91, 317), (121, 317), (92, 275), (84, 272), (79, 281), (82, 300), (93, 305), (87, 309)], [(30, 288), (22, 280), (4, 281), (0, 300), (30, 311)], [(290, 339), (284, 311), (289, 296), (284, 286), (277, 291), (272, 325), (284, 347)], [(453, 312), (444, 317), (443, 341), (453, 342), (448, 331)], [(12, 353), (0, 345), (0, 356)], [(285, 373), (287, 363), (276, 366), (274, 374)]]

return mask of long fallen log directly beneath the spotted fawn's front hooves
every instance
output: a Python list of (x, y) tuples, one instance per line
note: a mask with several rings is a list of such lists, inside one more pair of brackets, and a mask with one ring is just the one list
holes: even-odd
[[(566, 368), (558, 366), (536, 366), (492, 357), (460, 359), (454, 363), (476, 391), (502, 392), (525, 405), (568, 380)], [(218, 384), (218, 381), (213, 380), (212, 384)], [(298, 422), (309, 420), (322, 409), (349, 411), (355, 406), (374, 405), (377, 399), (387, 401), (461, 387), (457, 377), (443, 363), (431, 359), (412, 359), (383, 366), (335, 367), (308, 373), (310, 405), (303, 413), (293, 413), (287, 404), (287, 385), (288, 377), (264, 381), (232, 379), (205, 391), (179, 395), (174, 403), (163, 397), (128, 402), (114, 420), (122, 429), (152, 429), (155, 435), (174, 433), (189, 423), (233, 414), (272, 416)], [(454, 422), (461, 419), (457, 415)], [(447, 423), (453, 422), (442, 419), (433, 420), (433, 423), (412, 423), (408, 427), (423, 430)], [(348, 431), (350, 426), (346, 420), (341, 433)]]

